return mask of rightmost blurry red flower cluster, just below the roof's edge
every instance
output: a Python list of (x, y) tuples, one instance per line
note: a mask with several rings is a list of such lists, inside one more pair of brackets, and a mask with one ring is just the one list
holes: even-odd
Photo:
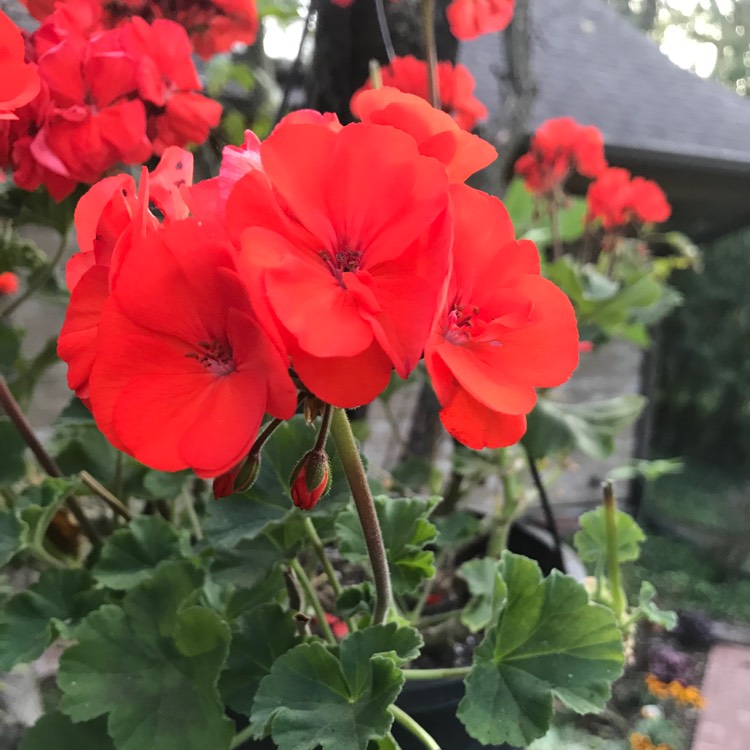
[(632, 221), (660, 223), (672, 214), (662, 189), (652, 180), (631, 178), (627, 169), (610, 167), (589, 186), (588, 220), (599, 220), (605, 229)]

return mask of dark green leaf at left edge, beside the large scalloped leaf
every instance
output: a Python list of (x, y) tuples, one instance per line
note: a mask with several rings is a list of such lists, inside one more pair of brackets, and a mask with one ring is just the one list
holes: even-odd
[(33, 661), (59, 634), (99, 607), (105, 593), (94, 590), (87, 570), (48, 570), (7, 602), (0, 615), (0, 671)]

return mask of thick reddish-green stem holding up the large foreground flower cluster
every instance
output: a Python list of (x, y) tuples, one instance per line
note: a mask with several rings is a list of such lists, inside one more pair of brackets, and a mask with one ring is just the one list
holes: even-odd
[(331, 436), (354, 496), (354, 504), (365, 535), (367, 554), (370, 557), (372, 575), (375, 581), (375, 610), (372, 615), (372, 622), (373, 625), (381, 625), (385, 622), (388, 608), (391, 605), (391, 574), (388, 570), (388, 557), (383, 544), (383, 534), (380, 531), (375, 504), (372, 501), (370, 485), (367, 483), (365, 467), (362, 465), (352, 426), (344, 409), (335, 409), (333, 412)]

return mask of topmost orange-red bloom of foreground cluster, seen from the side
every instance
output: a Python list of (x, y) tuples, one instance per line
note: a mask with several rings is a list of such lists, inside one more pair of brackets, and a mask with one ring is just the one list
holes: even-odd
[(391, 125), (408, 133), (417, 142), (420, 154), (445, 165), (451, 182), (463, 182), (497, 158), (493, 146), (462, 130), (446, 112), (390, 86), (355, 94), (352, 112), (362, 122)]

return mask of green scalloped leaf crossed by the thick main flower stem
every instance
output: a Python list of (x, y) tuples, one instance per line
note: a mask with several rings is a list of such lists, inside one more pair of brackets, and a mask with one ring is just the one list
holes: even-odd
[[(424, 547), (435, 540), (437, 529), (428, 517), (439, 498), (375, 498), (375, 510), (388, 553), (393, 590), (413, 593), (425, 578), (435, 575), (434, 554)], [(359, 516), (347, 508), (336, 519), (336, 538), (342, 556), (351, 563), (367, 560)]]

